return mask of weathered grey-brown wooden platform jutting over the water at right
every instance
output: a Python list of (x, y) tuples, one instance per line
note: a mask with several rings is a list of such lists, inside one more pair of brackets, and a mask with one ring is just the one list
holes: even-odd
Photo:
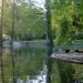
[(52, 59), (83, 64), (83, 53), (53, 53)]

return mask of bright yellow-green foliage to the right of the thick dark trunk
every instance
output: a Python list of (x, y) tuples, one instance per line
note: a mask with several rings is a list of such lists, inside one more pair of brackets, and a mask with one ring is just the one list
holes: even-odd
[(73, 31), (74, 34), (82, 33), (82, 0), (53, 0), (52, 31), (55, 45), (69, 44), (75, 41), (71, 38)]

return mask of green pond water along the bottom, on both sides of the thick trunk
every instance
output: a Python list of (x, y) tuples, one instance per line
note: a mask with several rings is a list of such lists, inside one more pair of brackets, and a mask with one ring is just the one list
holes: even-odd
[[(13, 76), (23, 82), (17, 83), (46, 83), (46, 82), (27, 82), (37, 80), (37, 76), (46, 75), (48, 48), (21, 48), (13, 50), (14, 66), (12, 66), (12, 53), (10, 49), (3, 50), (3, 79), (4, 83), (12, 83)], [(14, 74), (13, 74), (14, 72)], [(83, 65), (63, 61), (53, 61), (52, 83), (72, 83), (72, 80), (83, 81)], [(0, 74), (0, 83), (1, 74)]]

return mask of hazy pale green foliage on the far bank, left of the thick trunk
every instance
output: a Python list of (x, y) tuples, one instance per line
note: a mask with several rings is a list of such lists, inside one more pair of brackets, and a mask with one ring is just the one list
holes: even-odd
[[(7, 4), (10, 3), (8, 7)], [(12, 31), (12, 2), (4, 6), (3, 33), (11, 37)], [(39, 14), (42, 13), (42, 14)], [(45, 38), (44, 12), (32, 6), (30, 2), (22, 1), (14, 4), (14, 39), (32, 40)]]

